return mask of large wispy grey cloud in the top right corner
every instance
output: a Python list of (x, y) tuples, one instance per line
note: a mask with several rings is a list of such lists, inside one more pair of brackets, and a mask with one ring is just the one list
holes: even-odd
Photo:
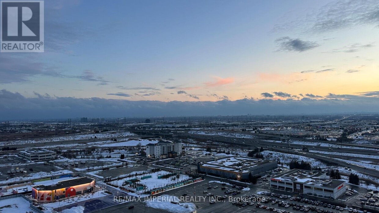
[(329, 31), (378, 26), (379, 2), (377, 0), (337, 0), (318, 9), (309, 9), (303, 17), (274, 26), (274, 31), (301, 31), (319, 34)]

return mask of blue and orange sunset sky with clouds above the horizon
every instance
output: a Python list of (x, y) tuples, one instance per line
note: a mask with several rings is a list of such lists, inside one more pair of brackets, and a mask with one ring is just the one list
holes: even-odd
[[(45, 0), (0, 117), (377, 112), (377, 0)], [(49, 112), (49, 113), (48, 113)]]

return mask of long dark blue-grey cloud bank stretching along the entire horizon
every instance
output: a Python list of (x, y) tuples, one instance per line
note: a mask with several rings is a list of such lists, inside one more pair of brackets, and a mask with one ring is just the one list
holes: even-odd
[[(370, 92), (365, 92), (368, 94)], [(371, 93), (379, 94), (378, 91)], [(117, 94), (117, 93), (116, 93)], [(105, 98), (26, 98), (20, 93), (0, 90), (0, 118), (41, 119), (75, 117), (153, 117), (253, 114), (314, 114), (378, 112), (379, 97), (350, 95), (346, 99), (273, 100), (244, 98), (236, 101), (130, 101)], [(338, 96), (333, 94), (333, 96)]]

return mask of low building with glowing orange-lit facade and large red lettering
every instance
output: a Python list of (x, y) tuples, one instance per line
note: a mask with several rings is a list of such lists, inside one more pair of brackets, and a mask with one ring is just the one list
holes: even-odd
[(89, 177), (63, 180), (55, 185), (33, 186), (31, 197), (36, 201), (55, 201), (65, 197), (90, 193), (94, 190), (95, 180)]

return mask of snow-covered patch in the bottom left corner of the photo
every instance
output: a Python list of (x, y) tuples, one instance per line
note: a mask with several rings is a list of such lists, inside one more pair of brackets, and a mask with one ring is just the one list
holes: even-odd
[(23, 213), (29, 211), (36, 213), (36, 211), (30, 208), (30, 203), (22, 197), (0, 200), (1, 213)]

